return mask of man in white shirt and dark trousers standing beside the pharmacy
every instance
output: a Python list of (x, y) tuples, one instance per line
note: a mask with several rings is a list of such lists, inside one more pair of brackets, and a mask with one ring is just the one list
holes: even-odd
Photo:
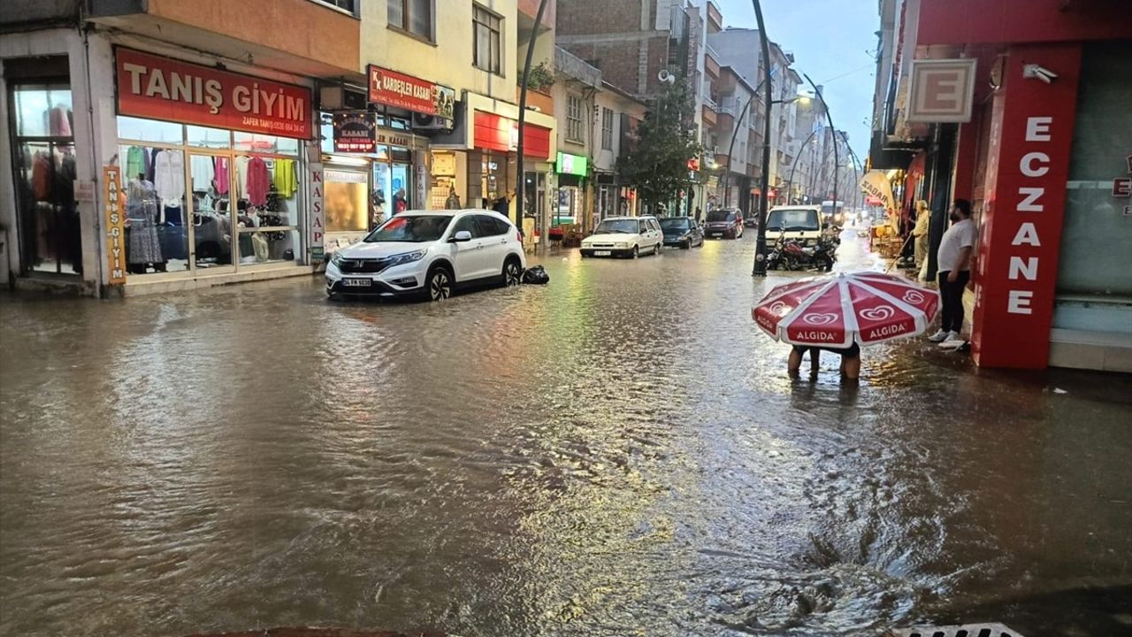
[(959, 339), (963, 329), (963, 288), (971, 280), (971, 252), (975, 250), (975, 222), (971, 202), (951, 204), (951, 228), (940, 239), (936, 262), (940, 272), (940, 301), (943, 318), (940, 331), (928, 337), (933, 342)]

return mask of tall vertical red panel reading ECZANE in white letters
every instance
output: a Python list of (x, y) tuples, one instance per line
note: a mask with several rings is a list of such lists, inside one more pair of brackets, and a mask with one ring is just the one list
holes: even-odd
[[(1022, 77), (1023, 63), (1057, 73)], [(1081, 45), (1011, 49), (992, 105), (971, 351), (986, 367), (1048, 364)]]

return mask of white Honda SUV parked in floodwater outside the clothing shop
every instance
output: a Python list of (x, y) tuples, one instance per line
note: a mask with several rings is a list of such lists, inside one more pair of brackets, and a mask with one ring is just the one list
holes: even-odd
[(501, 214), (411, 210), (335, 252), (326, 264), (326, 294), (443, 300), (469, 283), (516, 286), (525, 267), (518, 231)]

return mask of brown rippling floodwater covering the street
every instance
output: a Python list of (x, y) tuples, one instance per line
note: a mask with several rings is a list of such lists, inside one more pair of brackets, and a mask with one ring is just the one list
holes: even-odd
[(790, 381), (753, 250), (0, 297), (0, 634), (1132, 630), (1129, 377), (903, 342)]

